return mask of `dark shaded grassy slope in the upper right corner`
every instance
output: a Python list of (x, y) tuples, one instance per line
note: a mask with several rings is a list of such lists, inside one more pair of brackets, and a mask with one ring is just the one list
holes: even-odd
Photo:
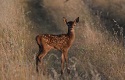
[[(93, 15), (99, 16), (106, 29), (122, 35), (125, 31), (125, 1), (124, 0), (83, 0), (89, 6)], [(125, 35), (125, 33), (123, 33)]]

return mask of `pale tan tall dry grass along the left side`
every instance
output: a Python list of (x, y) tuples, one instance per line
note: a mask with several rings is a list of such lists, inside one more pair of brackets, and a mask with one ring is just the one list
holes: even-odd
[(36, 74), (35, 53), (27, 50), (32, 34), (25, 18), (25, 0), (0, 3), (0, 80), (46, 80)]

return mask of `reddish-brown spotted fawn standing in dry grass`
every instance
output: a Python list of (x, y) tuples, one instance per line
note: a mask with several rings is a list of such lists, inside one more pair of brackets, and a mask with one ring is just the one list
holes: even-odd
[(68, 68), (68, 50), (70, 49), (74, 39), (75, 39), (75, 30), (74, 27), (79, 22), (79, 17), (74, 21), (67, 21), (63, 17), (64, 23), (68, 26), (67, 34), (41, 34), (36, 36), (36, 42), (39, 46), (39, 52), (36, 56), (36, 71), (38, 72), (38, 65), (42, 62), (43, 58), (51, 49), (59, 50), (61, 54), (61, 74), (64, 73), (64, 63), (66, 62), (67, 73), (70, 74)]

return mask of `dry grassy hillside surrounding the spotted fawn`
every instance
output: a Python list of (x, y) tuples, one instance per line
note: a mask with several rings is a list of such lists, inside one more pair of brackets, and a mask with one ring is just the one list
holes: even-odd
[[(124, 8), (113, 8), (122, 1), (110, 1), (112, 14), (107, 16), (100, 15), (109, 9), (107, 0), (0, 0), (0, 80), (124, 80), (123, 31), (115, 28), (119, 37), (112, 32), (114, 25), (124, 30)], [(78, 16), (76, 39), (69, 50), (71, 74), (65, 71), (61, 76), (61, 54), (55, 50), (44, 58), (46, 75), (37, 74), (36, 35), (67, 33), (63, 17)], [(115, 23), (109, 22), (113, 19)]]

